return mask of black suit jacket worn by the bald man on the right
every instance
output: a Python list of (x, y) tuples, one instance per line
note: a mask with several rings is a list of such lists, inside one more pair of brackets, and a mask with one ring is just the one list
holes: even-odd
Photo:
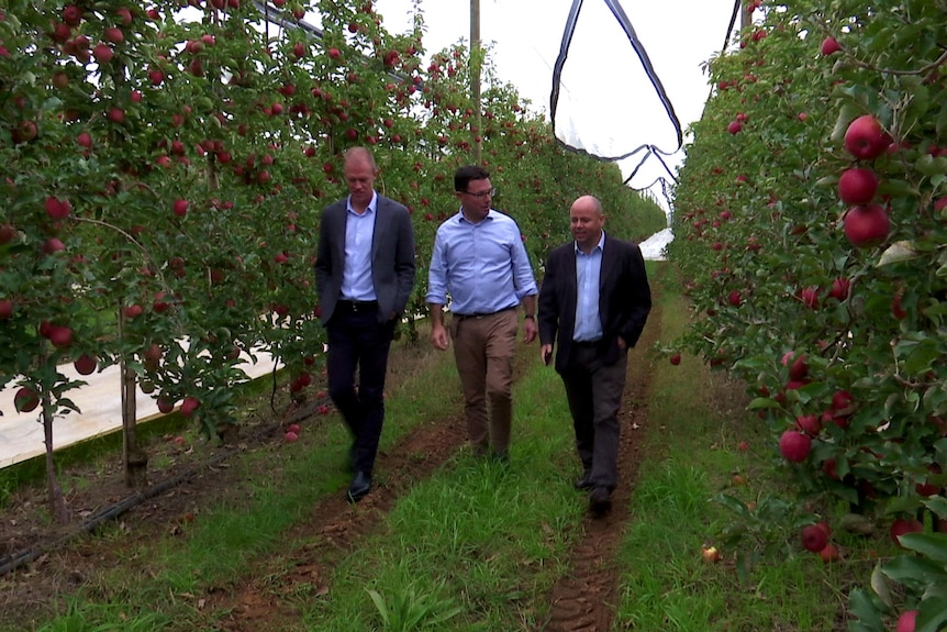
[[(556, 370), (569, 367), (572, 332), (576, 328), (576, 244), (569, 242), (549, 253), (546, 276), (539, 288), (539, 344), (556, 344)], [(599, 281), (599, 315), (602, 341), (599, 356), (605, 365), (619, 361), (622, 336), (628, 348), (635, 346), (648, 312), (651, 291), (645, 273), (645, 259), (637, 245), (605, 235), (602, 270)]]

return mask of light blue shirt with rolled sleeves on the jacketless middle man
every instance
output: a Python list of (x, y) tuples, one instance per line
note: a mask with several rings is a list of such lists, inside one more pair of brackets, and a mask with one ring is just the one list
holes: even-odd
[(438, 226), (425, 300), (446, 306), (448, 293), (456, 314), (498, 312), (537, 293), (513, 218), (491, 209), (475, 224), (458, 212)]

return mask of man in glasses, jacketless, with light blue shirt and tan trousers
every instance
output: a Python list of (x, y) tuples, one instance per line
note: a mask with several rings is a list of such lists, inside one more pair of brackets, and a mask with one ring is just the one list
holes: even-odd
[[(536, 339), (536, 279), (513, 218), (491, 208), (493, 186), (479, 166), (457, 169), (460, 211), (437, 229), (426, 300), (431, 342), (454, 358), (464, 390), (467, 431), (477, 455), (509, 461), (513, 409), (513, 356), (519, 318), (523, 341)], [(444, 307), (450, 306), (449, 332)]]

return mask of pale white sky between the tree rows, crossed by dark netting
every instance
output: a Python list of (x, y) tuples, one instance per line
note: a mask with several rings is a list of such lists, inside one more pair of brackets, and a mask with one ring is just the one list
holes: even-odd
[[(376, 0), (406, 31), (411, 0)], [(468, 0), (420, 0), (428, 52), (469, 42)], [(728, 40), (736, 0), (480, 0), (499, 77), (550, 118), (565, 145), (619, 164), (669, 209), (687, 127), (710, 93), (703, 65)]]

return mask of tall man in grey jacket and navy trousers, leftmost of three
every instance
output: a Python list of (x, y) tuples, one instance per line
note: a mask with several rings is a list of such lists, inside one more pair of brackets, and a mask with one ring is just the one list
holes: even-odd
[(353, 436), (352, 502), (371, 488), (385, 421), (388, 352), (414, 287), (411, 215), (375, 191), (377, 174), (365, 147), (345, 153), (349, 195), (323, 210), (315, 258), (320, 318), (328, 333), (328, 395)]

